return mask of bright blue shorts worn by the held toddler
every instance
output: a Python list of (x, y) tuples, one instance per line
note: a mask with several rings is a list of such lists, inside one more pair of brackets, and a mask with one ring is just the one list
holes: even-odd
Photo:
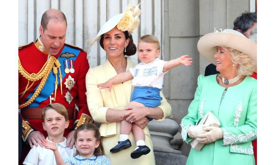
[[(154, 87), (134, 87), (131, 101), (136, 101), (145, 105), (145, 107), (158, 107), (162, 97), (159, 95), (161, 89)], [(149, 121), (152, 118), (147, 117)]]

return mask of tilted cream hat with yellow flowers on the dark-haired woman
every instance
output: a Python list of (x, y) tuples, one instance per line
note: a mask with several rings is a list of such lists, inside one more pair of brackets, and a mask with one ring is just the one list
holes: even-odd
[(132, 32), (139, 27), (139, 15), (141, 14), (139, 5), (140, 3), (138, 6), (135, 6), (133, 3), (129, 3), (124, 13), (117, 14), (110, 18), (102, 26), (97, 36), (90, 42), (90, 45), (92, 46), (102, 34), (109, 32), (115, 26), (117, 26), (118, 30), (123, 32), (128, 31), (129, 34), (132, 34)]

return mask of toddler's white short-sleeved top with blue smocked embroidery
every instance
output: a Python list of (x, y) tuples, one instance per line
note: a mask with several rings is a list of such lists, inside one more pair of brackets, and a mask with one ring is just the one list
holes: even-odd
[(164, 64), (167, 61), (156, 58), (149, 63), (140, 62), (136, 66), (129, 69), (133, 75), (132, 85), (135, 87), (154, 87), (162, 88), (163, 77), (165, 73), (162, 72)]

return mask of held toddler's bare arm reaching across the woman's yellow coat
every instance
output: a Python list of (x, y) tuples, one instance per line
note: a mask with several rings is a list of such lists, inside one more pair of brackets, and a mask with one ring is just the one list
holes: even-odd
[(116, 76), (110, 78), (105, 83), (97, 84), (97, 87), (101, 87), (100, 89), (109, 88), (109, 91), (111, 92), (113, 84), (119, 84), (132, 78), (134, 77), (130, 71), (118, 73)]

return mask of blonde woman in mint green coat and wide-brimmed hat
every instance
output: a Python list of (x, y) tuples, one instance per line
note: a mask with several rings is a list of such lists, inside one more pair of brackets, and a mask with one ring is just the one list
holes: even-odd
[[(257, 44), (225, 29), (203, 36), (198, 50), (220, 74), (198, 77), (194, 100), (180, 124), (185, 142), (204, 144), (200, 151), (191, 148), (186, 164), (255, 164), (251, 141), (257, 137), (257, 82), (248, 75), (256, 68)], [(197, 125), (209, 111), (220, 127)]]

